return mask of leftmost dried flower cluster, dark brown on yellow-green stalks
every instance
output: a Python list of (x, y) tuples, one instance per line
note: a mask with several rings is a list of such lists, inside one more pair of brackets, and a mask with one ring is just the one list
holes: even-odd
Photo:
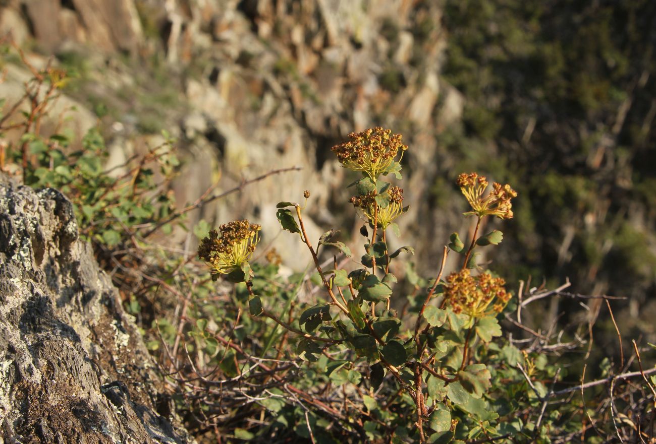
[(233, 221), (209, 232), (198, 246), (198, 258), (213, 268), (212, 274), (228, 274), (251, 259), (260, 240), (260, 225), (247, 220)]

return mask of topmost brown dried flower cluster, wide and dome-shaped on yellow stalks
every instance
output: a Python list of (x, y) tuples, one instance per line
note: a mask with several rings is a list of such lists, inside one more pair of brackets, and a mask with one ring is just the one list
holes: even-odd
[(392, 172), (399, 150), (403, 156), (407, 149), (407, 145), (401, 143), (401, 134), (392, 134), (392, 130), (380, 126), (351, 133), (348, 137), (351, 140), (335, 145), (333, 153), (344, 168), (363, 172), (374, 181), (380, 174)]

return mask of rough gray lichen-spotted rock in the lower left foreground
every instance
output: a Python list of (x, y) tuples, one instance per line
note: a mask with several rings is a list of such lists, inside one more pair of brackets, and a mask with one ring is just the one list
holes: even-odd
[(162, 389), (72, 204), (0, 176), (0, 443), (189, 442)]

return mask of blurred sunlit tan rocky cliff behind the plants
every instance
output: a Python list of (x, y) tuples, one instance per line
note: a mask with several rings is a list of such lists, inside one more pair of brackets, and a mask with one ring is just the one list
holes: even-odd
[[(296, 263), (304, 257), (300, 241), (276, 238), (276, 202), (310, 189), (310, 237), (331, 227), (357, 233), (343, 189), (352, 178), (329, 150), (377, 124), (411, 146), (403, 185), (412, 190), (411, 213), (401, 228), (440, 239), (423, 242), (419, 256), (439, 253), (456, 228), (450, 223), (459, 223), (443, 211), (440, 223), (420, 223), (435, 218), (431, 189), (438, 168), (452, 162), (435, 136), (463, 106), (438, 75), (445, 32), (436, 2), (12, 0), (0, 8), (0, 31), (10, 29), (79, 74), (68, 90), (77, 109), (108, 110), (100, 121), (112, 141), (111, 166), (155, 145), (148, 133), (165, 128), (179, 137), (186, 153), (175, 185), (180, 204), (216, 182), (220, 192), (272, 168), (302, 168), (203, 207), (191, 225), (255, 219), (288, 265), (304, 267)], [(158, 68), (150, 69), (154, 60)], [(73, 120), (93, 121), (88, 113)], [(169, 240), (180, 245), (184, 236)]]

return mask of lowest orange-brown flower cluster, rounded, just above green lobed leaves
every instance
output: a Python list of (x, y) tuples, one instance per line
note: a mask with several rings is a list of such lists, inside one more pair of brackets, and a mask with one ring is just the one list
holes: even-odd
[[(472, 318), (482, 318), (500, 313), (510, 300), (506, 282), (485, 272), (472, 276), (468, 268), (453, 272), (447, 277), (444, 297), (455, 313), (465, 313)], [(489, 306), (495, 302), (491, 309)]]

